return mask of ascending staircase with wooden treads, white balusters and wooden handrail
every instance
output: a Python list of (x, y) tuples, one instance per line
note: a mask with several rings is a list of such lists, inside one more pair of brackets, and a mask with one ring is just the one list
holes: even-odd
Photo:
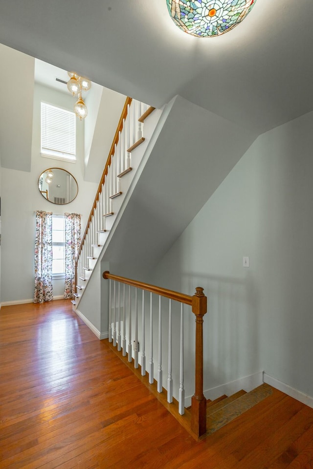
[[(143, 137), (146, 119), (154, 110), (154, 107), (131, 98), (126, 99), (76, 258), (76, 291), (71, 300), (74, 310), (84, 295), (98, 259), (101, 259), (113, 223), (145, 153), (149, 137), (156, 127), (160, 113), (145, 132), (148, 139)], [(143, 150), (140, 152), (141, 145)]]

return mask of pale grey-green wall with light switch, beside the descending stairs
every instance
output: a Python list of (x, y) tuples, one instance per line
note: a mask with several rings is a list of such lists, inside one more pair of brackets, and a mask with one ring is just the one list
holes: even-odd
[(313, 396), (312, 128), (309, 113), (258, 137), (152, 275), (204, 287), (205, 389), (264, 369)]

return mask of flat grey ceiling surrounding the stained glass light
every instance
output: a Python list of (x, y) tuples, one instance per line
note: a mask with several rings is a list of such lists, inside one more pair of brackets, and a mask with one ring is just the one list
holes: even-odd
[(155, 107), (179, 94), (259, 135), (313, 110), (312, 18), (312, 0), (257, 0), (199, 39), (165, 0), (2, 0), (0, 43)]

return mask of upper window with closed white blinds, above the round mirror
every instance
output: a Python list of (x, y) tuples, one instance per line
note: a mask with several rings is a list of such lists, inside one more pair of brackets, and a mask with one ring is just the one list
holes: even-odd
[(41, 154), (72, 163), (76, 161), (74, 112), (41, 103)]

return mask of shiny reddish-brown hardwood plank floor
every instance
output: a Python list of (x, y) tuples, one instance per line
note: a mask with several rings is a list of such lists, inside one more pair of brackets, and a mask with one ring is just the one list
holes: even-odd
[(196, 442), (73, 313), (0, 310), (0, 468), (312, 469), (313, 409), (280, 391)]

